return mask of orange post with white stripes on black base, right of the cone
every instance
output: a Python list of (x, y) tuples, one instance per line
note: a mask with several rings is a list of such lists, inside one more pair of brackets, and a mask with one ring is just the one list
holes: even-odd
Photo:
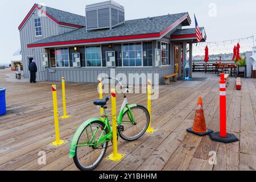
[(234, 134), (226, 133), (226, 81), (224, 73), (220, 76), (220, 132), (211, 133), (209, 137), (216, 142), (237, 142), (238, 138)]

